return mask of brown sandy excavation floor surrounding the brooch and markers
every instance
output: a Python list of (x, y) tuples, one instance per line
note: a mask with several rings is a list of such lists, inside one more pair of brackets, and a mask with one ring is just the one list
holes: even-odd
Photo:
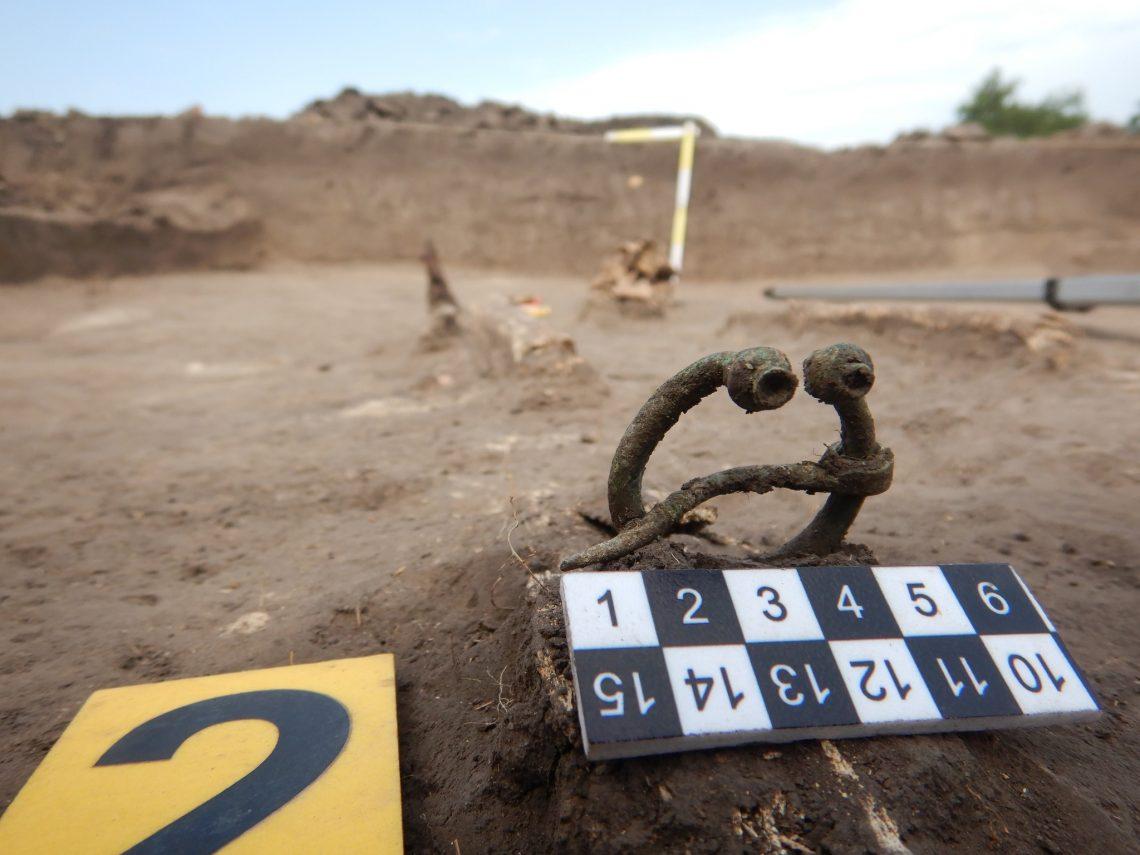
[[(467, 306), (545, 298), (597, 376), (421, 351), (412, 266), (0, 290), (0, 804), (96, 689), (390, 651), (412, 852), (1137, 850), (1135, 312), (1070, 319), (1058, 361), (969, 324), (797, 323), (760, 282), (682, 286), (667, 319), (633, 321), (581, 319), (581, 279), (448, 272)], [(547, 589), (601, 539), (579, 511), (603, 506), (628, 420), (707, 352), (798, 365), (844, 340), (876, 360), (897, 461), (852, 539), (881, 563), (1013, 563), (1104, 716), (586, 764)], [(803, 393), (755, 416), (716, 396), (646, 486), (815, 458), (836, 434)], [(817, 502), (717, 500), (714, 530), (746, 546), (676, 538), (644, 561), (743, 555)]]

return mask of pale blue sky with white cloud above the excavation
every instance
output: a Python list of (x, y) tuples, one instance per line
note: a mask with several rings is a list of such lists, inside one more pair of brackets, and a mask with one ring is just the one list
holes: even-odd
[(351, 84), (836, 146), (940, 127), (997, 65), (1116, 121), (1140, 101), (1134, 0), (5, 2), (0, 113), (284, 116)]

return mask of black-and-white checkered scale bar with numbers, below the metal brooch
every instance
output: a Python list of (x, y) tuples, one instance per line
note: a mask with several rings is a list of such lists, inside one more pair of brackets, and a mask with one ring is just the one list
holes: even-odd
[(578, 572), (562, 604), (591, 759), (1099, 712), (1009, 564)]

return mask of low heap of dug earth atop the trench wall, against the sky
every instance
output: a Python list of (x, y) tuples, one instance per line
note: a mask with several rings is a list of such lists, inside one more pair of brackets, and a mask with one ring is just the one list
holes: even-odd
[(342, 89), (333, 98), (318, 98), (293, 117), (302, 121), (415, 122), (472, 130), (592, 135), (619, 128), (658, 128), (691, 121), (700, 127), (702, 133), (716, 136), (716, 129), (699, 116), (645, 114), (585, 121), (553, 113), (536, 113), (516, 104), (495, 100), (482, 100), (469, 107), (445, 95), (408, 91), (366, 95), (352, 87)]

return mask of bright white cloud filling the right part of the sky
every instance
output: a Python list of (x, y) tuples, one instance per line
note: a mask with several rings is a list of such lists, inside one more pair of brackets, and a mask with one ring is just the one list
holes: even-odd
[(995, 66), (1025, 81), (1025, 97), (1081, 87), (1093, 115), (1124, 121), (1140, 100), (1140, 7), (840, 0), (513, 97), (576, 116), (698, 113), (733, 136), (838, 146), (951, 123), (955, 105)]

